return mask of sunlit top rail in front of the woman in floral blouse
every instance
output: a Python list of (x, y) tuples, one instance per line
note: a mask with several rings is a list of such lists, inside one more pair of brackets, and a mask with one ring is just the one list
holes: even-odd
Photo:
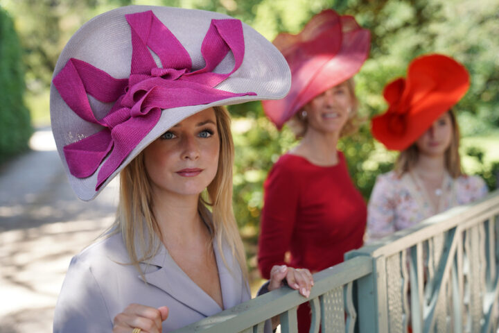
[[(389, 237), (374, 241), (372, 244), (351, 251), (351, 253), (355, 253), (356, 255), (370, 255), (372, 257), (394, 255), (405, 248), (410, 248), (421, 241), (426, 241), (435, 234), (441, 234), (455, 228), (457, 225), (464, 223), (463, 221), (473, 219), (475, 223), (480, 223), (480, 219), (487, 219), (496, 214), (499, 214), (499, 190), (489, 193), (474, 203), (454, 207), (410, 228), (399, 230)], [(466, 225), (469, 227), (469, 224)]]

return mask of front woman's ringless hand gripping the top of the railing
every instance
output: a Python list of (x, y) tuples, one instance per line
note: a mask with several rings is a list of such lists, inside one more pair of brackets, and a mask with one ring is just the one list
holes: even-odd
[(282, 287), (284, 284), (292, 289), (296, 289), (304, 296), (310, 296), (310, 289), (313, 287), (313, 276), (306, 268), (292, 268), (286, 265), (275, 265), (270, 270), (270, 280), (268, 290)]

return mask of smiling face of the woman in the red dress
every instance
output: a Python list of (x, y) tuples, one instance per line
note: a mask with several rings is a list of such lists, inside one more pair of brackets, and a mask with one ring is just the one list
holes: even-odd
[(308, 129), (322, 133), (339, 132), (349, 119), (352, 96), (347, 82), (327, 89), (305, 105)]

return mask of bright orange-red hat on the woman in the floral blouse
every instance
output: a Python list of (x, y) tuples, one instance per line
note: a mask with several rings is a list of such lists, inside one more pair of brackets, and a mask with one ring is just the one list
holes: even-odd
[(441, 54), (412, 60), (407, 78), (385, 86), (388, 110), (371, 121), (372, 134), (386, 148), (403, 151), (469, 88), (469, 74), (459, 62)]

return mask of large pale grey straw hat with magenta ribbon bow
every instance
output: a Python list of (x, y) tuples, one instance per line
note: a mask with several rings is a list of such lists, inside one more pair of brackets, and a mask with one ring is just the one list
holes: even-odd
[(69, 183), (91, 200), (148, 144), (201, 110), (281, 99), (290, 69), (250, 26), (217, 12), (127, 6), (67, 43), (51, 123)]

